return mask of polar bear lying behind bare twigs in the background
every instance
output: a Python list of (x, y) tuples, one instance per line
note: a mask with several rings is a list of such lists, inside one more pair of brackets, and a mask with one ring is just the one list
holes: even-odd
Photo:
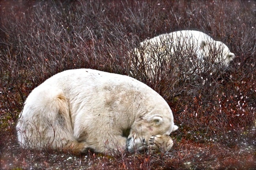
[(204, 71), (227, 68), (235, 56), (223, 42), (193, 30), (175, 31), (147, 39), (132, 53), (137, 58), (132, 65), (132, 75), (143, 67), (145, 74), (151, 78), (160, 69), (166, 71), (163, 64), (168, 64), (167, 68), (173, 72), (191, 78)]

